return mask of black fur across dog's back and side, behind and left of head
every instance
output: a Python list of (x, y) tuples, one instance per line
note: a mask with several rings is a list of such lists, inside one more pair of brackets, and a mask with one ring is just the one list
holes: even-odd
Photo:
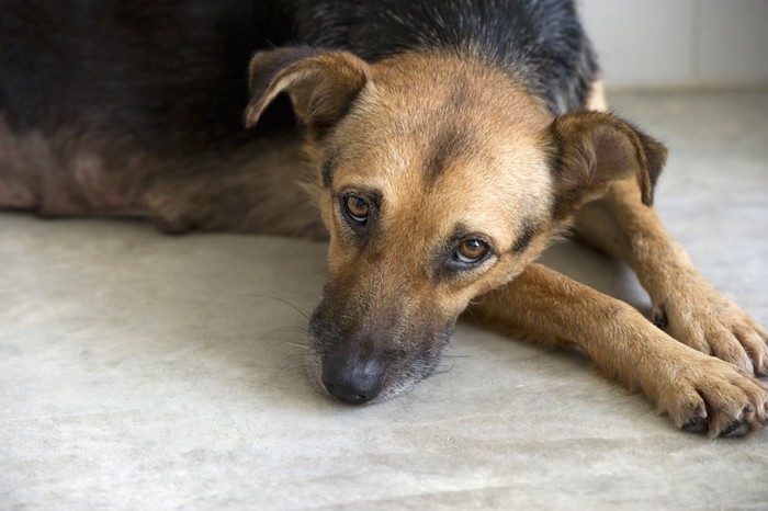
[[(596, 72), (572, 0), (0, 0), (0, 112), (18, 133), (81, 125), (143, 149), (236, 144), (255, 50), (348, 49), (375, 61), (445, 48), (507, 70), (552, 113)], [(293, 125), (287, 103), (262, 132)]]

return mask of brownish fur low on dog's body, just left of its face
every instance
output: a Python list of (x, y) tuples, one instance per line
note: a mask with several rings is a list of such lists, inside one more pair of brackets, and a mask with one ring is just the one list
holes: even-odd
[[(225, 158), (226, 164), (195, 160), (194, 164), (203, 169), (226, 169), (213, 179), (208, 172), (200, 172), (200, 178), (194, 179), (183, 172), (185, 169), (178, 174), (173, 173), (176, 169), (167, 169), (162, 180), (146, 186), (140, 202), (159, 228), (168, 232), (190, 228), (242, 232), (258, 229), (264, 234), (327, 238), (315, 202), (303, 189), (313, 173), (300, 140), (272, 140)], [(260, 191), (259, 202), (251, 196), (253, 190)], [(180, 201), (180, 196), (184, 200)]]

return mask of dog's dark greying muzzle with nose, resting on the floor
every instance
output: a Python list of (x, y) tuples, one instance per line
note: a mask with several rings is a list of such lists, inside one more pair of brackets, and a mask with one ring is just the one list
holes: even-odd
[(309, 319), (309, 377), (350, 405), (386, 400), (429, 376), (455, 321), (430, 303), (405, 308), (402, 295), (375, 298), (327, 284)]

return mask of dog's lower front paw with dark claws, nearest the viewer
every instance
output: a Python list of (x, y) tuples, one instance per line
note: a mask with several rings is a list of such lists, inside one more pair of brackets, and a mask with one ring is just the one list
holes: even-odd
[(709, 436), (743, 436), (768, 420), (768, 387), (719, 359), (691, 353), (668, 368), (657, 388), (657, 407), (686, 431)]

